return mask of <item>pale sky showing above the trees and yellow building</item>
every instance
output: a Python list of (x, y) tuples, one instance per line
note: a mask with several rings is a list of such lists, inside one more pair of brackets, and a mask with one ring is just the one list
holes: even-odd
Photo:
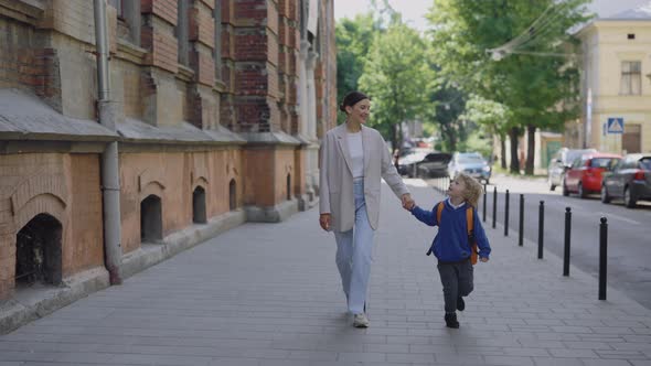
[[(427, 21), (423, 15), (427, 13), (433, 2), (434, 0), (388, 0), (395, 10), (403, 14), (403, 20), (407, 24), (420, 31), (427, 29)], [(589, 8), (604, 18), (649, 3), (651, 0), (593, 0)], [(355, 14), (366, 12), (370, 7), (370, 0), (334, 0), (334, 19), (353, 18)]]

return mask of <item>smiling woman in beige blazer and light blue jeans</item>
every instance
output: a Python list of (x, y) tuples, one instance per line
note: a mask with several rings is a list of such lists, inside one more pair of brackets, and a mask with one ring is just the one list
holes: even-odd
[(384, 139), (363, 125), (371, 111), (369, 97), (351, 92), (340, 109), (346, 115), (345, 123), (328, 131), (321, 142), (319, 224), (334, 233), (337, 267), (353, 326), (367, 327), (366, 293), (380, 216), (380, 179), (386, 181), (403, 206), (409, 206), (413, 200)]

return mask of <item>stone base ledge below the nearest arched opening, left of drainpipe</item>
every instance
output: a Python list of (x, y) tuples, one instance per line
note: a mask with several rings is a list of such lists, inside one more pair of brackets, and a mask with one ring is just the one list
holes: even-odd
[(0, 334), (108, 287), (108, 271), (98, 267), (64, 279), (61, 287), (35, 286), (19, 290), (13, 298), (0, 304)]

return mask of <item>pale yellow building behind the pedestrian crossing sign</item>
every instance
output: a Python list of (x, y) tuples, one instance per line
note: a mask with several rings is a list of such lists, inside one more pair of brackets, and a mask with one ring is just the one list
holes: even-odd
[(583, 112), (580, 121), (567, 123), (566, 144), (651, 151), (651, 3), (597, 19), (577, 36)]

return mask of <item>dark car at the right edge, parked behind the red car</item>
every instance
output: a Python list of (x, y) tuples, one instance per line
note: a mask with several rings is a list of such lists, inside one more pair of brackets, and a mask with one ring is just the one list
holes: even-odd
[(622, 197), (627, 207), (638, 201), (651, 201), (651, 153), (630, 153), (611, 172), (604, 174), (601, 202)]

